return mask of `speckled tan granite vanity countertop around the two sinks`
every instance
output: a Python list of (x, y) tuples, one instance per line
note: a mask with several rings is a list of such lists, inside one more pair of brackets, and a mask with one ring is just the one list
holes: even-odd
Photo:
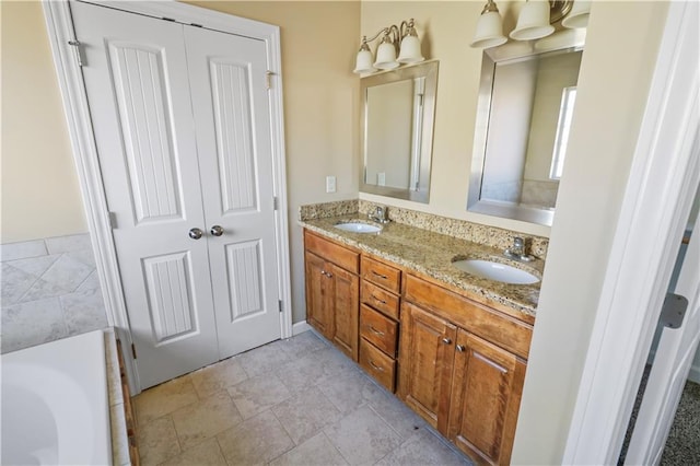
[(402, 223), (389, 222), (380, 233), (351, 233), (334, 225), (363, 220), (354, 215), (327, 217), (300, 220), (300, 224), (340, 243), (382, 257), (408, 269), (466, 292), (466, 295), (485, 303), (498, 303), (516, 313), (535, 317), (539, 299), (539, 282), (534, 284), (508, 284), (464, 272), (452, 265), (453, 258), (488, 259), (529, 271), (541, 278), (545, 263), (535, 259), (523, 264), (503, 256), (503, 252), (466, 240), (434, 233)]

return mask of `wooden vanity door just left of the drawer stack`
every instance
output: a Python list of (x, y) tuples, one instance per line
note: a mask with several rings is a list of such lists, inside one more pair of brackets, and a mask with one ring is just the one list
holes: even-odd
[(332, 342), (348, 358), (358, 361), (358, 328), (360, 316), (360, 279), (329, 264), (334, 281), (335, 331)]

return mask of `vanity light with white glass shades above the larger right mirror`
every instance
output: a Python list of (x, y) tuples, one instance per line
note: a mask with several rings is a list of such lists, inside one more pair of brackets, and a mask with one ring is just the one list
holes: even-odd
[[(547, 37), (555, 32), (552, 24), (559, 21), (562, 26), (569, 28), (586, 27), (590, 12), (590, 0), (527, 0), (509, 37), (514, 40)], [(489, 48), (506, 42), (508, 37), (503, 35), (503, 20), (499, 9), (493, 0), (488, 0), (479, 16), (470, 46)]]

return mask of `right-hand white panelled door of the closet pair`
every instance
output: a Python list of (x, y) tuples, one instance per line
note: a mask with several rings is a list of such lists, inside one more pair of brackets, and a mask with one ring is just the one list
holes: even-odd
[[(280, 338), (262, 40), (185, 27), (221, 357)], [(212, 228), (221, 228), (212, 232)]]

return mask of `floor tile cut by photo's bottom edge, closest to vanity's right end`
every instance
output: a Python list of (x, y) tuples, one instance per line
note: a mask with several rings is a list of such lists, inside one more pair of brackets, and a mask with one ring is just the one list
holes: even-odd
[(422, 430), (395, 448), (377, 466), (471, 466), (434, 434)]

